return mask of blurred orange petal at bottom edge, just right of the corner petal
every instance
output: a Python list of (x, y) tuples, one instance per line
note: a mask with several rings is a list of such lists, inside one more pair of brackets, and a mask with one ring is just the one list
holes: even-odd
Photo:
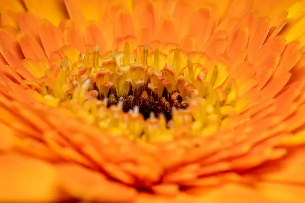
[(136, 195), (133, 188), (107, 180), (102, 174), (79, 165), (63, 164), (57, 169), (62, 189), (82, 200), (123, 203), (131, 202)]

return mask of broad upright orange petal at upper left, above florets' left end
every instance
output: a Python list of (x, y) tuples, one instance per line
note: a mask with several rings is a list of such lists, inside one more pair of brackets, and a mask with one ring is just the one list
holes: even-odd
[(64, 45), (63, 34), (47, 20), (42, 20), (39, 33), (45, 53), (50, 59), (51, 53)]

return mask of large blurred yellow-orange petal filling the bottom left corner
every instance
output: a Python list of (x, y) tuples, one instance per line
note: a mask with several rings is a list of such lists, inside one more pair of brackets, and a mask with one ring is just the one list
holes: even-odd
[(57, 188), (54, 168), (20, 155), (0, 156), (0, 202), (49, 202), (65, 200)]

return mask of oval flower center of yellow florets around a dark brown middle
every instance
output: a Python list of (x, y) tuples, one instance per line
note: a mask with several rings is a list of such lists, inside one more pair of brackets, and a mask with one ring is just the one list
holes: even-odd
[(52, 82), (40, 90), (44, 102), (114, 135), (152, 140), (162, 131), (158, 134), (172, 139), (180, 136), (173, 130), (180, 127), (181, 136), (198, 135), (217, 130), (235, 114), (236, 83), (221, 63), (207, 68), (198, 63), (200, 54), (179, 48), (164, 54), (146, 45), (131, 49), (129, 43), (103, 56), (96, 47), (74, 61), (71, 52), (63, 51), (60, 67), (46, 71)]

